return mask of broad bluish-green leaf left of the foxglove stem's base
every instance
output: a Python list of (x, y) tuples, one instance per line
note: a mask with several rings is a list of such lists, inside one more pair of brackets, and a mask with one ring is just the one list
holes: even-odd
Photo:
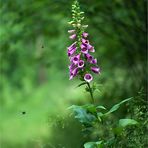
[(92, 125), (92, 122), (96, 120), (96, 117), (91, 113), (88, 113), (83, 106), (72, 105), (69, 107), (69, 109), (74, 111), (75, 118), (78, 119), (81, 123)]

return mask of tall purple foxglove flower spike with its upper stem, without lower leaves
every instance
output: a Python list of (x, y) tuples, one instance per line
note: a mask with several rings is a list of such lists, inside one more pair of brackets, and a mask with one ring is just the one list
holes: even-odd
[(84, 81), (83, 84), (88, 85), (88, 91), (94, 102), (90, 82), (93, 80), (93, 73), (100, 74), (100, 68), (97, 59), (92, 55), (95, 49), (88, 40), (89, 34), (85, 31), (88, 25), (84, 25), (83, 20), (84, 12), (80, 11), (79, 3), (75, 0), (72, 5), (72, 20), (69, 22), (72, 29), (68, 30), (69, 39), (72, 40), (72, 44), (67, 48), (70, 61), (69, 79), (77, 77)]

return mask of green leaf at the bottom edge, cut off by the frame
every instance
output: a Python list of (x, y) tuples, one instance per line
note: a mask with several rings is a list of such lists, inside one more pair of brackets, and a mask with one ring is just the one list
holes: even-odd
[(87, 142), (84, 144), (84, 148), (102, 148), (102, 147), (103, 147), (103, 141)]

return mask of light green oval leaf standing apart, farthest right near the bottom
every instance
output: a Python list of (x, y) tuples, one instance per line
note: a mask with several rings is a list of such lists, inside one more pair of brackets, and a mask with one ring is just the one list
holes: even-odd
[(119, 126), (126, 127), (129, 125), (137, 125), (138, 122), (134, 119), (120, 119), (119, 120)]

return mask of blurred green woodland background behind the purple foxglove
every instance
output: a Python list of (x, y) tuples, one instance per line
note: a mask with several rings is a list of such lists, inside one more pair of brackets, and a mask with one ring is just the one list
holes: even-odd
[[(71, 3), (0, 0), (1, 148), (80, 148), (86, 140), (67, 110), (90, 100), (68, 76)], [(98, 104), (146, 92), (146, 0), (80, 4), (101, 67)]]

